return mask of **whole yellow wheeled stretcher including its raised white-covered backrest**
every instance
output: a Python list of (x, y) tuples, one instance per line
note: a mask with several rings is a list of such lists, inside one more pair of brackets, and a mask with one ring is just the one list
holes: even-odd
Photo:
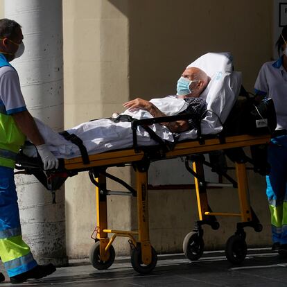
[[(239, 209), (238, 213), (223, 213), (211, 211), (207, 198), (207, 182), (203, 165), (204, 154), (214, 150), (238, 150), (248, 146), (266, 145), (270, 141), (270, 134), (239, 134), (227, 135), (221, 132), (221, 123), (234, 106), (241, 87), (241, 74), (234, 72), (232, 56), (228, 53), (208, 53), (195, 60), (190, 67), (199, 67), (211, 76), (209, 85), (203, 92), (208, 103), (207, 114), (201, 121), (201, 132), (196, 139), (182, 138), (174, 143), (166, 143), (160, 139), (156, 145), (141, 146), (137, 139), (137, 128), (150, 126), (154, 123), (167, 121), (187, 120), (192, 115), (175, 115), (151, 119), (132, 119), (132, 146), (121, 150), (106, 151), (85, 157), (72, 159), (60, 159), (59, 168), (55, 171), (43, 171), (42, 162), (24, 155), (17, 157), (17, 168), (25, 173), (35, 175), (44, 186), (55, 191), (67, 180), (68, 177), (77, 175), (79, 172), (88, 172), (91, 181), (96, 186), (96, 229), (92, 234), (94, 245), (89, 254), (89, 259), (98, 270), (112, 266), (115, 251), (112, 243), (116, 237), (127, 237), (131, 247), (131, 263), (134, 270), (141, 274), (152, 271), (157, 264), (157, 252), (150, 243), (148, 227), (148, 169), (151, 162), (184, 158), (184, 166), (190, 171), (195, 180), (195, 191), (198, 202), (198, 220), (193, 231), (186, 235), (183, 242), (183, 251), (191, 261), (198, 260), (204, 251), (202, 225), (209, 225), (212, 229), (218, 229), (219, 223), (216, 216), (238, 217), (236, 232), (226, 243), (225, 254), (232, 263), (241, 263), (246, 256), (247, 245), (245, 243), (245, 227), (253, 227), (260, 232), (262, 225), (250, 206), (246, 163), (247, 157), (241, 154), (234, 157), (236, 168), (236, 180), (220, 171), (221, 175), (232, 182), (238, 189)], [(241, 111), (242, 112), (242, 111)], [(208, 134), (209, 131), (214, 134)], [(151, 134), (150, 137), (152, 138)], [(107, 173), (107, 168), (116, 166), (130, 166), (134, 168), (136, 176), (135, 189), (123, 182), (123, 180)], [(216, 170), (216, 168), (214, 168)], [(110, 178), (122, 184), (127, 191), (107, 190), (106, 179)], [(109, 229), (107, 226), (107, 196), (108, 195), (131, 195), (137, 197), (137, 223), (134, 230)], [(112, 234), (111, 237), (109, 235)]]

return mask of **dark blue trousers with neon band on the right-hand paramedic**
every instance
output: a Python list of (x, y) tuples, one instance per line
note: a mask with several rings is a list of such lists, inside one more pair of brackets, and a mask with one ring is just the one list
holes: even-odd
[(287, 136), (271, 140), (268, 148), (270, 174), (266, 176), (272, 241), (287, 244)]

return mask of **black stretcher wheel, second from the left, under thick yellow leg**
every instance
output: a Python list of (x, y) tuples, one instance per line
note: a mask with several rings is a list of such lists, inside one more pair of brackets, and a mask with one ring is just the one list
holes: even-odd
[(148, 265), (146, 265), (143, 264), (143, 261), (141, 260), (141, 246), (139, 245), (139, 247), (134, 248), (132, 250), (132, 255), (130, 257), (132, 268), (134, 268), (134, 270), (136, 270), (141, 274), (146, 274), (153, 271), (153, 269), (157, 265), (157, 252), (155, 251), (153, 246), (151, 246), (151, 251), (152, 251), (152, 260)]

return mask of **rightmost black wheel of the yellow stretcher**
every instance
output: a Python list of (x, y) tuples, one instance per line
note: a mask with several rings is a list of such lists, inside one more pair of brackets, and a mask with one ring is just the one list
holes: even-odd
[(247, 254), (247, 245), (240, 235), (235, 234), (228, 238), (225, 246), (227, 260), (234, 264), (240, 264)]

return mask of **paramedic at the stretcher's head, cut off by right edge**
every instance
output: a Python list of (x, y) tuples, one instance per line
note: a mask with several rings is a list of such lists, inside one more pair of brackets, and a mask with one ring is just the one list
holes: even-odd
[(276, 43), (279, 59), (263, 64), (255, 82), (257, 96), (272, 98), (277, 128), (268, 147), (266, 176), (272, 228), (272, 250), (287, 255), (287, 26)]

